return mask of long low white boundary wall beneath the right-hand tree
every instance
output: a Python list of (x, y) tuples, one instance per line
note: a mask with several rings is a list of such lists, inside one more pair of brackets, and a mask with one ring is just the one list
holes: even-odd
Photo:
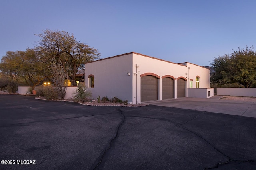
[(217, 88), (217, 95), (256, 97), (256, 88)]

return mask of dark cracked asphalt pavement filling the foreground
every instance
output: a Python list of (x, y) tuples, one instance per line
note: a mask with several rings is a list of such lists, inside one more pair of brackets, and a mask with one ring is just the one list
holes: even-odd
[(255, 129), (252, 117), (0, 95), (0, 169), (254, 170)]

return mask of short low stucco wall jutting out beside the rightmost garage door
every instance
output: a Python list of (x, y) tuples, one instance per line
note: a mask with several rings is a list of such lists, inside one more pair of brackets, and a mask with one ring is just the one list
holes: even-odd
[(214, 88), (188, 88), (189, 98), (210, 98), (214, 96)]

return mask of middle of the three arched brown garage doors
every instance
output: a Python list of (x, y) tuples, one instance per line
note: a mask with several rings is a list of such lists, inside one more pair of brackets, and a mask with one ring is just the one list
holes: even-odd
[(162, 99), (173, 98), (173, 80), (170, 77), (162, 79)]

